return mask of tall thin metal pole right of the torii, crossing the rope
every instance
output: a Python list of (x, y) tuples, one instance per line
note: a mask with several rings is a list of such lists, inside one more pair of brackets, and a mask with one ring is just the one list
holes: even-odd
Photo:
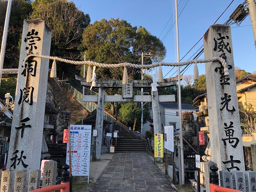
[[(176, 15), (177, 62), (180, 62), (177, 0), (175, 0), (175, 15)], [(185, 184), (185, 175), (184, 175), (183, 133), (182, 133), (182, 121), (181, 121), (180, 66), (178, 66), (178, 98), (179, 98), (178, 99), (178, 107), (179, 107), (179, 118), (180, 118), (180, 158), (181, 158), (181, 174), (182, 174), (182, 182), (180, 184), (184, 185)]]

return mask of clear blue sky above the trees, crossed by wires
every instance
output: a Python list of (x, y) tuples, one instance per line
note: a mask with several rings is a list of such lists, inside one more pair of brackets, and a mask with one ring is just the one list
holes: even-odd
[[(232, 0), (178, 0), (180, 59), (200, 40), (209, 26), (224, 12)], [(173, 25), (174, 0), (73, 0), (84, 13), (88, 13), (91, 23), (102, 18), (124, 19), (132, 26), (143, 26), (152, 35), (159, 37), (166, 47), (164, 62), (176, 62), (176, 34)], [(224, 24), (235, 8), (244, 0), (234, 0), (217, 23)], [(186, 6), (185, 6), (186, 5)], [(174, 15), (175, 18), (175, 15)], [(169, 22), (168, 22), (169, 21)], [(256, 49), (250, 16), (240, 24), (231, 25), (235, 66), (247, 72), (256, 71)], [(203, 45), (202, 40), (185, 56), (190, 59)], [(202, 54), (199, 58), (204, 58)], [(164, 67), (164, 76), (172, 67)], [(193, 74), (190, 66), (184, 75)], [(199, 74), (205, 74), (204, 64), (198, 64)], [(181, 68), (182, 70), (182, 68)], [(176, 76), (172, 70), (165, 78)]]

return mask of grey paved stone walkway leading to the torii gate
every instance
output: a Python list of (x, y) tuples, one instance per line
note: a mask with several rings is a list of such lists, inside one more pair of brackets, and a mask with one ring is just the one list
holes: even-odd
[(92, 192), (175, 192), (170, 180), (145, 153), (115, 154)]

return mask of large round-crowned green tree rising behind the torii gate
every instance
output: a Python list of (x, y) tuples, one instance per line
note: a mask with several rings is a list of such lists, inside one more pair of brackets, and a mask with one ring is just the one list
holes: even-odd
[[(140, 63), (141, 53), (151, 54), (144, 63), (164, 59), (166, 49), (162, 42), (145, 28), (132, 27), (127, 21), (110, 18), (88, 25), (83, 32), (80, 50), (86, 50), (86, 59), (105, 64)], [(140, 70), (128, 68), (128, 78), (138, 79)], [(97, 68), (97, 79), (122, 79), (123, 69)]]

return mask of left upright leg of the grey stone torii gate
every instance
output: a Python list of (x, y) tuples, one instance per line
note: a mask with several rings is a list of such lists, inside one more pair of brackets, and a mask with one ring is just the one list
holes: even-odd
[(99, 88), (98, 106), (97, 106), (97, 114), (96, 114), (96, 122), (95, 122), (95, 129), (98, 129), (98, 136), (96, 137), (96, 142), (95, 142), (96, 143), (95, 160), (100, 160), (100, 154), (101, 154), (105, 92), (106, 92), (106, 88), (104, 87)]

